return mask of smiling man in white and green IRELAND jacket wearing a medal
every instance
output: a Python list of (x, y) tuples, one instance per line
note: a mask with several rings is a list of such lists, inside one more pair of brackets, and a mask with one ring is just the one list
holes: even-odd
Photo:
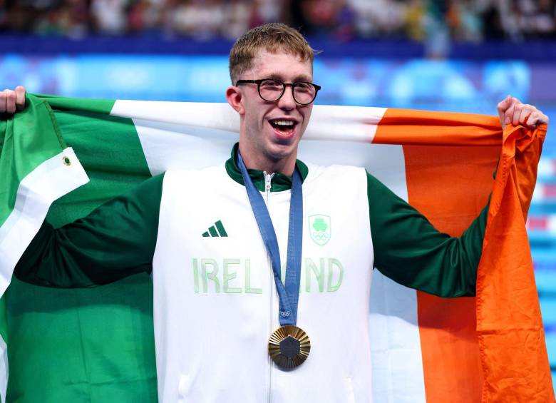
[[(475, 293), (485, 210), (451, 238), (363, 169), (297, 160), (319, 90), (313, 54), (281, 24), (244, 34), (230, 53), (226, 96), (240, 114), (231, 158), (168, 171), (59, 230), (45, 223), (16, 267), (20, 279), (55, 287), (152, 272), (162, 402), (369, 401), (372, 267), (436, 295)], [(0, 112), (21, 107), (22, 94), (4, 91)], [(498, 111), (503, 125), (548, 121), (515, 98)], [(299, 217), (311, 215), (333, 216), (334, 235), (299, 248)], [(206, 236), (212, 223), (226, 236)], [(296, 279), (315, 262), (329, 292), (299, 294)]]

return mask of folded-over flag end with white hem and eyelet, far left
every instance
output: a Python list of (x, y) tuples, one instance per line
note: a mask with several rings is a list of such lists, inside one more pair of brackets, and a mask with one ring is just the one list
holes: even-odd
[[(87, 182), (45, 103), (30, 103), (16, 120), (0, 121), (0, 293), (53, 200)], [(33, 127), (32, 131), (28, 128)], [(8, 377), (6, 299), (0, 300), (0, 399)]]

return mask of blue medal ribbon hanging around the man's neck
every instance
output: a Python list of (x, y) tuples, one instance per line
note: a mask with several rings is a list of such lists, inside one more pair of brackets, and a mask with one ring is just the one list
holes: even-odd
[(301, 255), (303, 238), (303, 190), (301, 175), (297, 167), (294, 168), (292, 182), (292, 196), (289, 202), (289, 227), (288, 227), (288, 250), (286, 263), (286, 281), (282, 284), (280, 251), (274, 225), (259, 190), (253, 185), (249, 178), (247, 168), (243, 163), (240, 152), (237, 152), (237, 165), (243, 176), (243, 182), (247, 189), (249, 203), (253, 210), (254, 218), (257, 220), (259, 231), (264, 245), (272, 262), (274, 272), (274, 283), (280, 300), (279, 321), (281, 326), (295, 325), (297, 322), (297, 301), (299, 300), (299, 277), (301, 273)]

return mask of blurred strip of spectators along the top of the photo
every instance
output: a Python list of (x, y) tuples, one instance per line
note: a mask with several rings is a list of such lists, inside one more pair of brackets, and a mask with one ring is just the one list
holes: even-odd
[(556, 36), (555, 0), (0, 0), (4, 33), (235, 39), (272, 21), (337, 39)]

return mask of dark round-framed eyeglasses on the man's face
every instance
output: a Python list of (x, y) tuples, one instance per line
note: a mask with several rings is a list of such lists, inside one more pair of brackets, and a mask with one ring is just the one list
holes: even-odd
[(309, 105), (316, 98), (316, 93), (321, 89), (314, 83), (307, 83), (306, 81), (298, 81), (297, 83), (284, 83), (283, 81), (275, 78), (262, 78), (261, 80), (238, 80), (236, 86), (240, 84), (257, 84), (259, 96), (264, 101), (275, 102), (284, 95), (286, 87), (292, 87), (294, 101), (299, 105)]

